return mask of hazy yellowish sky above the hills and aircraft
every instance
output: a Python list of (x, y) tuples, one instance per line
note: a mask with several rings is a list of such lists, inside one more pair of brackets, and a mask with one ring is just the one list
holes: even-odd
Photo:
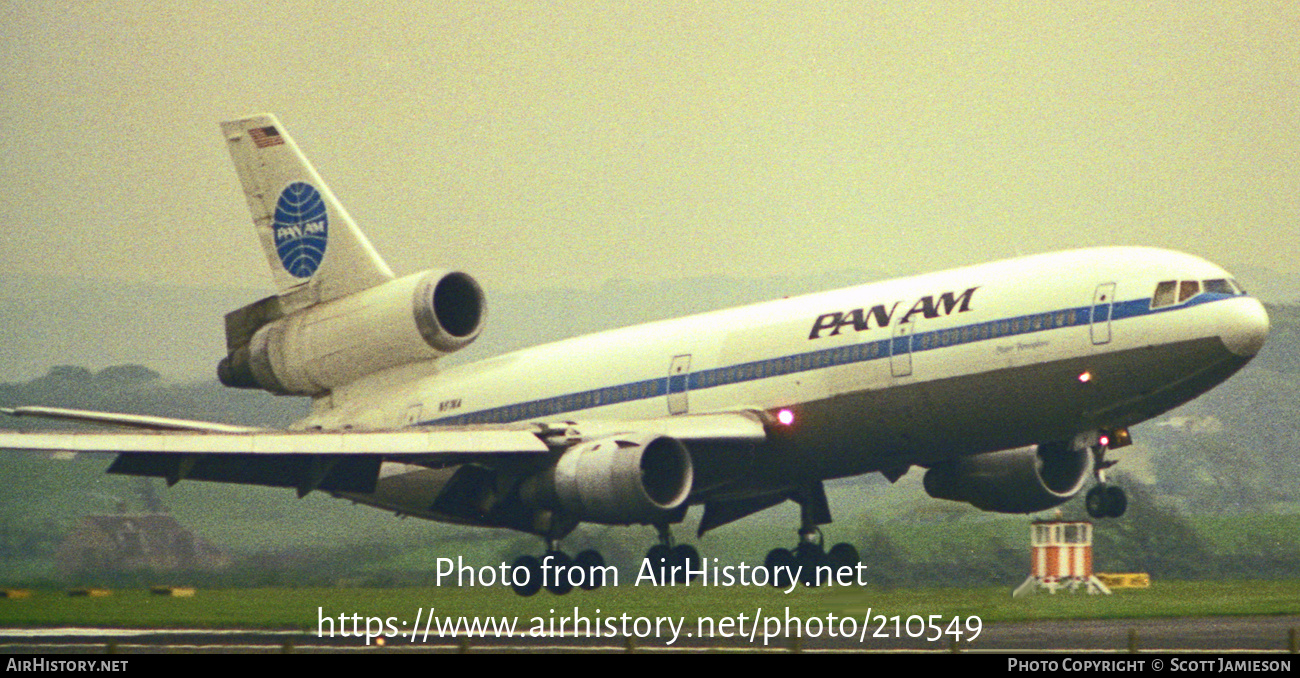
[[(1149, 244), (1300, 275), (1300, 3), (0, 3), (0, 266), (269, 284), (273, 112), (491, 290)], [(1248, 283), (1248, 281), (1247, 281)]]

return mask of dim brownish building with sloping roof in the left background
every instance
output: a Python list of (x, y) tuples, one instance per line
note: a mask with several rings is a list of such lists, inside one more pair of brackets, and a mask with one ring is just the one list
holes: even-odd
[(86, 516), (55, 552), (61, 574), (221, 570), (230, 556), (169, 513)]

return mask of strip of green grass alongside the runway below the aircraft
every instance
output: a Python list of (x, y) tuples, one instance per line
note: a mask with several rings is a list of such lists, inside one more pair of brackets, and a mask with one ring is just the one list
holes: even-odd
[(819, 588), (784, 594), (759, 587), (624, 586), (567, 596), (542, 592), (521, 599), (508, 588), (230, 588), (200, 590), (194, 597), (120, 590), (104, 597), (70, 597), (38, 590), (26, 599), (0, 599), (0, 626), (230, 627), (315, 631), (318, 616), (395, 617), (416, 612), (454, 617), (515, 616), (550, 618), (588, 616), (734, 617), (790, 614), (810, 617), (884, 614), (979, 616), (988, 621), (1045, 618), (1138, 618), (1238, 614), (1300, 614), (1300, 581), (1157, 582), (1147, 590), (1113, 596), (1058, 594), (1011, 599), (1010, 588)]

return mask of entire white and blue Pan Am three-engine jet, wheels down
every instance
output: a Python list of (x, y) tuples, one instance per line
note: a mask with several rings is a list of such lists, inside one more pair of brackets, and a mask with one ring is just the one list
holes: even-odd
[[(222, 383), (309, 396), (270, 431), (13, 408), (127, 433), (3, 434), (0, 447), (116, 452), (109, 473), (320, 490), (404, 516), (545, 540), (520, 594), (598, 583), (580, 522), (653, 525), (647, 559), (694, 565), (698, 534), (786, 500), (801, 507), (786, 574), (827, 552), (823, 482), (924, 469), (926, 491), (1032, 513), (1080, 494), (1093, 517), (1128, 426), (1213, 388), (1258, 352), (1264, 307), (1195, 256), (1095, 248), (879, 282), (604, 331), (439, 369), (486, 320), (460, 271), (398, 278), (272, 116), (221, 126), (278, 292), (226, 316)], [(143, 429), (139, 430), (139, 429)], [(549, 559), (546, 556), (550, 556)], [(783, 569), (783, 566), (785, 569)], [(681, 569), (679, 568), (679, 573)], [(774, 575), (774, 581), (780, 577)]]

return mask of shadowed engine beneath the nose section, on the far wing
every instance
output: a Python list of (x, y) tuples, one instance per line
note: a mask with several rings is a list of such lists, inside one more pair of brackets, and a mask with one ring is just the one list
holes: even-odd
[(926, 492), (998, 513), (1034, 513), (1079, 494), (1092, 452), (1049, 443), (945, 461), (926, 471)]

